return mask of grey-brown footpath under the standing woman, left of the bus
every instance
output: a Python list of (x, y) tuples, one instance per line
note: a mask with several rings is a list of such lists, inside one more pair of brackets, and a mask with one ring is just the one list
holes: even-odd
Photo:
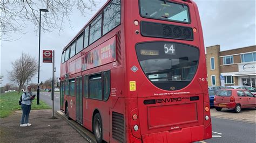
[(22, 111), (0, 118), (0, 142), (88, 142), (61, 115), (51, 110), (31, 110), (31, 126), (20, 127)]

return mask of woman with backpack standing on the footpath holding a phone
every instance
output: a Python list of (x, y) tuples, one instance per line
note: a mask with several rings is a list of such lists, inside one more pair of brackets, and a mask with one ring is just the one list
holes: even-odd
[(26, 91), (22, 94), (22, 118), (21, 118), (21, 127), (31, 126), (29, 123), (29, 113), (31, 110), (32, 100), (35, 99), (35, 96), (32, 96), (30, 85), (26, 86)]

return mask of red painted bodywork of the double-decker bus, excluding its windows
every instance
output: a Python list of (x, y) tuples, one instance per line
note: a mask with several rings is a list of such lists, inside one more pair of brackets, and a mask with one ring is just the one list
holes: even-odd
[[(206, 108), (210, 109), (210, 103), (206, 81), (203, 30), (198, 8), (193, 1), (171, 2), (188, 6), (191, 23), (143, 18), (139, 14), (138, 0), (122, 0), (120, 25), (61, 65), (62, 84), (64, 80), (110, 70), (109, 99), (103, 101), (83, 96), (82, 121), (79, 121), (81, 125), (93, 131), (93, 116), (99, 113), (102, 118), (103, 139), (107, 142), (192, 142), (212, 137), (210, 111), (206, 110)], [(135, 20), (139, 22), (138, 25), (134, 24)], [(145, 37), (140, 34), (142, 22), (191, 27), (193, 40)], [(81, 32), (82, 30), (79, 33)], [(178, 90), (163, 90), (150, 82), (140, 66), (135, 48), (144, 42), (155, 44), (172, 42), (196, 47), (199, 50), (199, 60), (196, 73), (190, 83)], [(113, 43), (116, 44), (116, 59), (108, 59), (99, 66), (87, 65), (88, 68), (83, 70), (81, 62), (83, 56)], [(84, 87), (84, 78), (82, 83)], [(174, 85), (170, 87), (175, 88)], [(76, 90), (75, 94), (77, 94)], [(66, 93), (63, 96), (60, 109), (65, 111), (65, 106), (68, 105), (69, 117), (76, 120), (76, 96), (69, 96)], [(119, 115), (123, 116), (123, 126), (120, 127), (124, 128), (119, 131), (123, 132), (121, 135), (116, 133), (119, 124), (115, 120)], [(133, 119), (133, 115), (137, 115), (136, 120)], [(137, 131), (134, 130), (136, 125)]]

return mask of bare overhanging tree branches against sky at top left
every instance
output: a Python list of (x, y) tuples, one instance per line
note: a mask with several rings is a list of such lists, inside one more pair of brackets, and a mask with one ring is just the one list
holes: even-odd
[[(49, 12), (42, 13), (42, 30), (51, 31), (59, 28), (63, 29), (63, 23), (68, 20), (73, 9), (79, 10), (82, 15), (86, 11), (92, 11), (96, 6), (95, 0), (71, 0), (71, 1), (20, 1), (20, 0), (2, 0), (0, 1), (0, 35), (4, 36), (2, 40), (9, 40), (9, 33), (19, 31), (26, 27), (28, 22), (39, 28), (39, 9), (48, 9)], [(71, 25), (71, 23), (70, 23)], [(71, 27), (71, 26), (70, 26)]]

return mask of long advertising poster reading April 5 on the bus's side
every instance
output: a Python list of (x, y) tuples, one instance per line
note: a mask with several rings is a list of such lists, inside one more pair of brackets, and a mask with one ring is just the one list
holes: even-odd
[(73, 74), (113, 61), (116, 61), (116, 37), (107, 40), (75, 61), (70, 62), (69, 73)]

